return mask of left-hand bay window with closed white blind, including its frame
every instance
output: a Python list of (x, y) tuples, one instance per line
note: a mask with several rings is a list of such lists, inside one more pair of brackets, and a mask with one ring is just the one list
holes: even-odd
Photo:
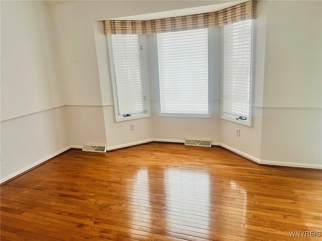
[(108, 40), (116, 121), (149, 116), (141, 37), (111, 35)]

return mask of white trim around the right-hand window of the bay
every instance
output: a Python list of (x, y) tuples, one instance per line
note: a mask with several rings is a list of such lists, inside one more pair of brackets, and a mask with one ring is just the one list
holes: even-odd
[(223, 41), (223, 28), (224, 26), (221, 28), (221, 90), (220, 90), (220, 94), (221, 94), (221, 103), (220, 103), (220, 118), (229, 121), (229, 122), (234, 122), (240, 125), (244, 125), (244, 126), (248, 126), (248, 127), (252, 127), (252, 115), (253, 115), (253, 76), (254, 76), (254, 49), (255, 49), (255, 21), (252, 19), (252, 34), (251, 34), (251, 40), (252, 40), (252, 46), (251, 46), (251, 71), (250, 71), (250, 107), (249, 107), (249, 117), (248, 120), (244, 121), (243, 119), (236, 119), (236, 115), (233, 114), (228, 114), (228, 113), (224, 113), (223, 112), (223, 73), (224, 73), (224, 66), (223, 66), (223, 55), (224, 55), (224, 41)]

